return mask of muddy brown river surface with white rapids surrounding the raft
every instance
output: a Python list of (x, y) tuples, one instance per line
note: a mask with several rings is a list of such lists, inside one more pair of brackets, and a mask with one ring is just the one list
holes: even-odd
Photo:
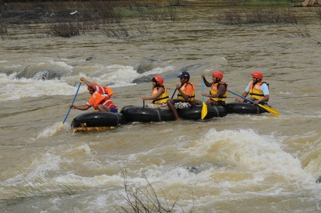
[[(150, 183), (170, 206), (178, 196), (175, 212), (193, 205), (193, 212), (320, 212), (321, 21), (307, 8), (291, 8), (298, 25), (224, 25), (214, 19), (224, 8), (211, 2), (178, 8), (175, 22), (124, 20), (125, 39), (98, 30), (39, 38), (17, 28), (1, 40), (0, 211), (118, 212), (127, 206), (127, 182), (133, 190)], [(251, 73), (262, 71), (280, 116), (73, 133), (73, 117), (84, 112), (71, 110), (62, 125), (80, 77), (110, 86), (121, 109), (142, 106), (153, 75), (164, 77), (172, 95), (182, 70), (200, 100), (202, 73), (211, 80), (220, 70), (242, 94)], [(75, 104), (88, 98), (83, 84)]]

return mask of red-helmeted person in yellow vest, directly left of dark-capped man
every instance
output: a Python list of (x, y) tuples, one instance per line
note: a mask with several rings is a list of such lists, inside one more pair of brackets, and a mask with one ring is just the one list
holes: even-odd
[[(147, 104), (146, 107), (160, 108), (163, 105), (166, 107), (167, 100), (169, 100), (169, 93), (164, 85), (164, 79), (161, 76), (154, 76), (151, 79), (152, 91), (151, 96), (142, 96), (142, 100), (152, 100), (151, 104)], [(167, 107), (168, 108), (168, 107)], [(169, 108), (168, 108), (169, 109)]]

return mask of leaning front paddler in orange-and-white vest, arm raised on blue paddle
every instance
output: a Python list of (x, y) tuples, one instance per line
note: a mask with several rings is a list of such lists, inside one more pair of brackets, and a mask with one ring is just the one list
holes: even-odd
[(85, 105), (76, 106), (74, 104), (70, 104), (69, 108), (87, 110), (90, 107), (93, 107), (99, 112), (118, 112), (118, 108), (110, 99), (114, 93), (109, 87), (103, 87), (96, 83), (91, 83), (83, 77), (80, 78), (80, 81), (87, 85), (87, 89), (91, 97)]

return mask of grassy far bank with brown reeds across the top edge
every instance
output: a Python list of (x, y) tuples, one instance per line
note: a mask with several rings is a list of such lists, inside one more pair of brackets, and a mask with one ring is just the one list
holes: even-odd
[[(301, 0), (302, 1), (302, 0)], [(300, 1), (300, 2), (301, 2)], [(214, 22), (226, 25), (290, 23), (296, 24), (297, 17), (288, 6), (299, 3), (297, 0), (211, 1), (211, 6), (228, 10), (216, 12)], [(198, 2), (186, 0), (153, 0), (153, 1), (14, 1), (7, 5), (0, 17), (0, 36), (5, 39), (16, 39), (13, 28), (25, 28), (31, 24), (48, 24), (45, 34), (34, 33), (37, 38), (72, 37), (91, 31), (103, 31), (114, 38), (127, 38), (131, 35), (148, 34), (148, 27), (132, 29), (124, 25), (124, 19), (137, 22), (175, 22), (180, 19), (181, 8), (193, 10)], [(231, 7), (230, 6), (238, 6)], [(233, 8), (233, 9), (232, 9)], [(317, 9), (313, 13), (321, 14)], [(130, 29), (130, 30), (129, 30)]]

